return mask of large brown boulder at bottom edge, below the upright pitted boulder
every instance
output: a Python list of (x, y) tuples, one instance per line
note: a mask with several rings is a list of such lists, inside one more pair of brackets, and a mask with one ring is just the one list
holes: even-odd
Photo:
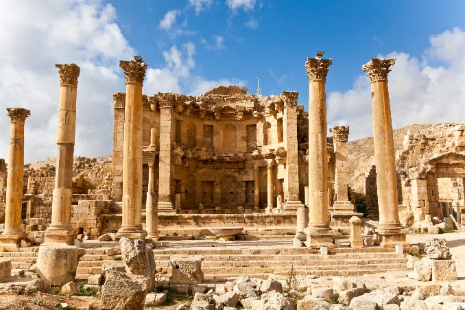
[(145, 276), (110, 271), (102, 286), (102, 307), (112, 310), (143, 309), (149, 279)]

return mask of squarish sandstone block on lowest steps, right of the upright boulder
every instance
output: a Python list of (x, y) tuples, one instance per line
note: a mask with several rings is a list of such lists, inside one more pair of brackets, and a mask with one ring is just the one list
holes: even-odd
[(171, 284), (198, 284), (204, 282), (202, 259), (200, 257), (170, 257)]

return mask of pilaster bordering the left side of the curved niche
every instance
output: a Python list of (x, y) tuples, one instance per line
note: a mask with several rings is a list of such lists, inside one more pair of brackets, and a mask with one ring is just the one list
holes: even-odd
[(171, 141), (173, 135), (174, 96), (160, 96), (160, 153), (158, 163), (158, 211), (176, 213), (171, 197)]

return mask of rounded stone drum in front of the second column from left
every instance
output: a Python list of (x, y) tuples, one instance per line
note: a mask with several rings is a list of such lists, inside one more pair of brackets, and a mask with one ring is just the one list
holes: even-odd
[(82, 255), (84, 249), (76, 246), (42, 245), (37, 253), (37, 276), (47, 285), (64, 285), (74, 281)]

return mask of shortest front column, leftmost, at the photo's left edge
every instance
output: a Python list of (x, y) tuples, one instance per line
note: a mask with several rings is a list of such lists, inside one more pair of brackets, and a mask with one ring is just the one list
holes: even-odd
[(25, 237), (21, 229), (24, 167), (24, 121), (31, 112), (24, 108), (7, 108), (10, 117), (10, 151), (6, 182), (5, 230), (0, 246), (18, 248)]

